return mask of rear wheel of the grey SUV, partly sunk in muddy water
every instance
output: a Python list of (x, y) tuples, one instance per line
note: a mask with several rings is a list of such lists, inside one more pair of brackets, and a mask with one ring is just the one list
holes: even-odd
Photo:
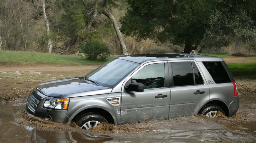
[(225, 115), (224, 111), (217, 105), (214, 104), (208, 104), (202, 107), (202, 109), (199, 111), (200, 114), (206, 115), (207, 117), (218, 117), (217, 112), (222, 112), (223, 115)]

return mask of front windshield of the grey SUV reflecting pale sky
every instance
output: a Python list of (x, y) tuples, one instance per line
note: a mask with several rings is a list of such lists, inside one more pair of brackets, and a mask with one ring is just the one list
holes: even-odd
[(99, 86), (114, 87), (139, 64), (123, 59), (112, 59), (85, 76)]

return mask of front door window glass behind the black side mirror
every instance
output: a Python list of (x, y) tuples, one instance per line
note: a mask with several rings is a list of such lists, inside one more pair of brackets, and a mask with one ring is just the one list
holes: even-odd
[(135, 74), (131, 81), (132, 83), (142, 83), (144, 88), (159, 88), (164, 87), (165, 67), (164, 63), (150, 64), (143, 67)]

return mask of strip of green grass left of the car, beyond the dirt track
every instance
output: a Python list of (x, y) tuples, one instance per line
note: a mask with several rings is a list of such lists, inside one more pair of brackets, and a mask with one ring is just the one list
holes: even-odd
[[(116, 57), (109, 56), (107, 60)], [(103, 64), (100, 61), (89, 61), (85, 56), (77, 55), (59, 55), (37, 52), (18, 52), (18, 51), (0, 51), (0, 62), (5, 63), (46, 63), (61, 65), (85, 65), (85, 64)]]

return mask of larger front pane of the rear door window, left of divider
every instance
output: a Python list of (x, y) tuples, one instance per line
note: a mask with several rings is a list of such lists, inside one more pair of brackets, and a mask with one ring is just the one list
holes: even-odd
[(174, 86), (194, 85), (191, 62), (174, 62), (171, 65)]

